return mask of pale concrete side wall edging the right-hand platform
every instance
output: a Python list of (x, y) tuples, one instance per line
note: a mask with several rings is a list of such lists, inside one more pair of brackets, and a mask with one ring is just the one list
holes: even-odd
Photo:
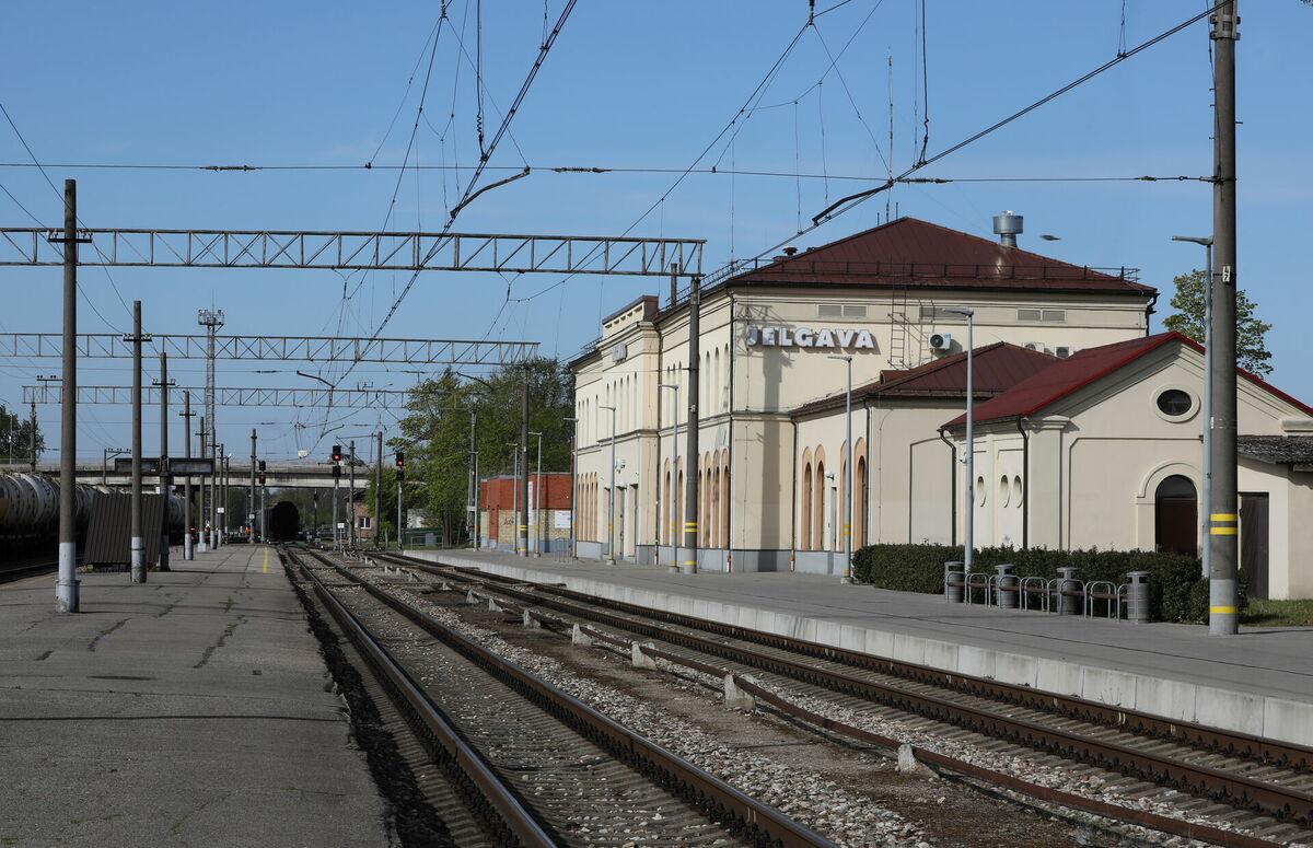
[(1040, 659), (997, 648), (957, 645), (873, 627), (792, 616), (739, 604), (708, 601), (671, 592), (633, 589), (604, 580), (561, 575), (532, 566), (507, 566), (449, 551), (414, 551), (411, 555), (530, 583), (565, 583), (566, 588), (607, 600), (639, 604), (666, 612), (727, 621), (744, 627), (832, 645), (846, 650), (919, 663), (941, 671), (990, 677), (1001, 683), (1124, 706), (1176, 721), (1313, 746), (1313, 704), (1234, 689), (1205, 687), (1120, 672), (1098, 666)]

